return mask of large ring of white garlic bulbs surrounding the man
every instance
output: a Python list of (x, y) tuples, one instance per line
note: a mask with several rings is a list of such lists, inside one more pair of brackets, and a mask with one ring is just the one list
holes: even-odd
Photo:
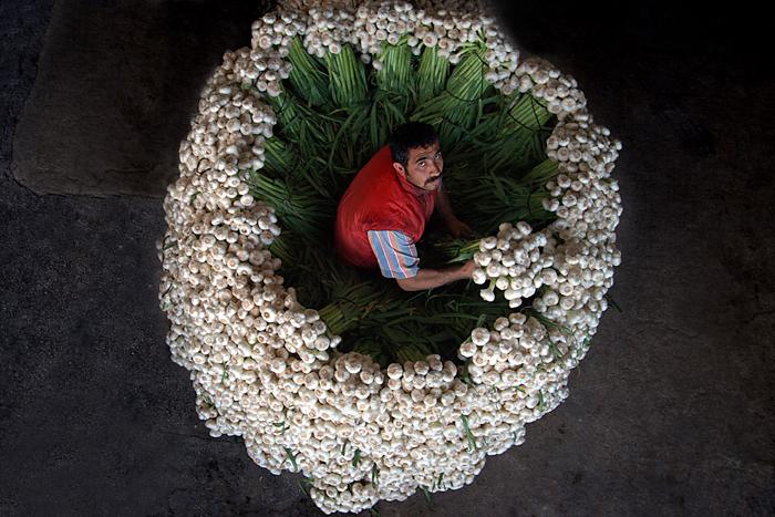
[[(568, 375), (587, 353), (620, 263), (621, 214), (610, 177), (621, 144), (593, 124), (571, 76), (540, 59), (520, 60), (492, 18), (472, 9), (421, 10), (404, 3), (288, 10), (252, 25), (251, 48), (227, 52), (202, 93), (180, 145), (180, 177), (164, 201), (158, 242), (162, 308), (173, 360), (190, 371), (199, 417), (210, 435), (242, 436), (250, 457), (273, 474), (302, 472), (326, 513), (401, 500), (417, 488), (461, 488), (525, 440), (525, 424), (568, 396)], [(380, 66), (383, 42), (411, 34), (418, 53), (456, 50), (485, 34), (487, 81), (504, 94), (530, 91), (559, 123), (547, 141), (560, 174), (545, 208), (557, 220), (534, 232), (504, 224), (485, 238), (474, 281), (504, 291), (510, 307), (533, 300), (461, 344), (464, 366), (426, 361), (381, 370), (369, 356), (337, 351), (312, 308), (301, 307), (268, 246), (282, 221), (255, 199), (244, 169), (264, 164), (278, 95), (290, 72), (293, 37), (314, 55), (351, 44)], [(246, 81), (257, 90), (240, 87)]]

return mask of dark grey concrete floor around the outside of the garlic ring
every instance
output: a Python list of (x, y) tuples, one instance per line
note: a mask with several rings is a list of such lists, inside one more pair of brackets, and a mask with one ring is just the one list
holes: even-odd
[[(298, 477), (208, 437), (157, 307), (159, 196), (199, 85), (266, 9), (244, 3), (0, 3), (2, 516), (319, 514)], [(773, 515), (764, 27), (742, 7), (540, 3), (504, 7), (505, 23), (624, 143), (622, 312), (523, 446), (431, 505), (378, 509)]]

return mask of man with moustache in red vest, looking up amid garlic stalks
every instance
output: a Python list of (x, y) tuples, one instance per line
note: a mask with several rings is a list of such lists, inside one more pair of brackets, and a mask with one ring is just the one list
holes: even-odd
[(420, 268), (415, 242), (435, 208), (453, 237), (472, 234), (442, 188), (444, 161), (428, 124), (399, 126), (358, 173), (337, 210), (335, 247), (351, 266), (376, 269), (406, 291), (471, 278), (473, 260), (447, 269)]

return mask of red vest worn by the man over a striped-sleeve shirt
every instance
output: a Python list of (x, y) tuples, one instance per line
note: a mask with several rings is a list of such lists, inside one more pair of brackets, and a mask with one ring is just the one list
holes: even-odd
[(441, 182), (434, 190), (412, 185), (393, 168), (390, 146), (382, 147), (358, 173), (337, 209), (334, 244), (352, 266), (376, 269), (366, 231), (397, 230), (420, 240), (433, 214)]

